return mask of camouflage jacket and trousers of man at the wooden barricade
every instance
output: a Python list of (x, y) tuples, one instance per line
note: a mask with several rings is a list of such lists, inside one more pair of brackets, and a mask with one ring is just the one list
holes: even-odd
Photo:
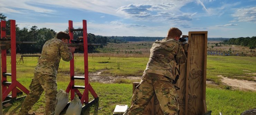
[(179, 42), (171, 38), (155, 41), (150, 52), (149, 62), (135, 89), (128, 114), (142, 115), (144, 108), (156, 94), (164, 115), (177, 115), (179, 103), (172, 84), (172, 65), (174, 61), (178, 64), (186, 63), (187, 57)]

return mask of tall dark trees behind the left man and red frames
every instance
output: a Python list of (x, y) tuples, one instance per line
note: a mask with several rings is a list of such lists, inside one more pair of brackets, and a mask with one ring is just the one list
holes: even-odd
[[(2, 13), (0, 13), (0, 20), (5, 20), (6, 18)], [(6, 28), (10, 28), (10, 20), (6, 21)], [(81, 28), (79, 28), (81, 29)], [(68, 29), (66, 31), (68, 33)], [(10, 35), (10, 30), (6, 31), (6, 35)], [(57, 35), (53, 29), (50, 28), (40, 28), (33, 26), (32, 28), (19, 28), (16, 25), (16, 41), (25, 41), (25, 42), (37, 42), (35, 44), (17, 44), (16, 52), (17, 53), (41, 53), (42, 46), (44, 43), (54, 38)], [(74, 32), (74, 39), (77, 39), (78, 36), (83, 36), (83, 31)], [(123, 43), (124, 41), (118, 39), (112, 39), (107, 36), (94, 35), (92, 33), (87, 34), (88, 43), (99, 43), (105, 45), (107, 42), (111, 43)], [(96, 52), (95, 49), (103, 46), (92, 46), (89, 47), (88, 52)], [(10, 53), (10, 50), (7, 51)]]

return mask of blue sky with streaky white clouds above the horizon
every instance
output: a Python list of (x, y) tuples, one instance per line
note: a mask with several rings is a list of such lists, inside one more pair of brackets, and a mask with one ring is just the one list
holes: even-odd
[(167, 36), (208, 31), (209, 38), (256, 36), (256, 0), (0, 0), (0, 13), (20, 28), (74, 28), (103, 36)]

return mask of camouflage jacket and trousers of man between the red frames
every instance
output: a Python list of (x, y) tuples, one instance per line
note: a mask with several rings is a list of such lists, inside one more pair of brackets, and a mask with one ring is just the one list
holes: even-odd
[(39, 100), (40, 95), (45, 91), (45, 115), (54, 115), (57, 104), (57, 70), (60, 58), (70, 61), (73, 56), (67, 45), (53, 38), (45, 42), (41, 57), (35, 69), (34, 79), (29, 86), (30, 92), (23, 102), (18, 115), (27, 115), (31, 107)]

